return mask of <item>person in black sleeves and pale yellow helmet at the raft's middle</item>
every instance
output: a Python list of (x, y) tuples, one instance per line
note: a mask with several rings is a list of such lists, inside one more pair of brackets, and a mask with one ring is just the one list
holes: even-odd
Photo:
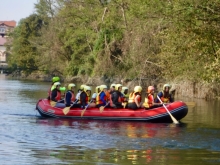
[(111, 99), (110, 99), (110, 106), (113, 108), (123, 108), (122, 102), (123, 102), (123, 94), (121, 93), (122, 91), (122, 85), (121, 84), (116, 84), (115, 85), (115, 90), (111, 94)]

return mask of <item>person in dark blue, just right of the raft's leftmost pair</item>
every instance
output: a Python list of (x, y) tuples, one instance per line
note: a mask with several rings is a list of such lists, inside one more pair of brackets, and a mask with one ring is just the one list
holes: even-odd
[(75, 90), (75, 84), (71, 83), (68, 85), (68, 91), (66, 92), (65, 95), (65, 104), (66, 107), (70, 107), (71, 104), (73, 104), (71, 107), (80, 107), (77, 102), (78, 100), (76, 100), (75, 94), (74, 94), (74, 90)]

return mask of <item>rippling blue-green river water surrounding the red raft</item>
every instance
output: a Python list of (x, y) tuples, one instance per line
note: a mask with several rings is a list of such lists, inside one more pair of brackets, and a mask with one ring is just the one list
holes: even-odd
[(181, 123), (44, 119), (50, 83), (0, 75), (2, 165), (220, 164), (220, 101), (193, 100)]

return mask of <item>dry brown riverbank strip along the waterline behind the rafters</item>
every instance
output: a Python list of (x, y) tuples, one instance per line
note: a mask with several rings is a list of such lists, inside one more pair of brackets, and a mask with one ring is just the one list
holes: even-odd
[[(11, 78), (20, 78), (27, 80), (38, 80), (51, 82), (52, 76), (42, 74), (41, 72), (32, 73), (28, 76), (20, 74), (10, 74)], [(219, 99), (220, 98), (220, 84), (217, 83), (205, 83), (196, 82), (192, 80), (174, 79), (172, 81), (166, 80), (150, 80), (150, 79), (134, 79), (134, 80), (124, 80), (121, 78), (107, 78), (107, 77), (88, 77), (88, 76), (77, 76), (77, 77), (62, 77), (61, 82), (65, 84), (69, 82), (87, 84), (91, 86), (97, 86), (100, 84), (110, 85), (111, 83), (121, 83), (123, 86), (127, 86), (131, 91), (134, 86), (141, 85), (145, 90), (147, 86), (153, 85), (156, 88), (156, 92), (160, 91), (163, 84), (169, 83), (172, 85), (171, 91), (175, 91), (175, 97), (188, 97), (188, 98), (198, 98), (198, 99)]]

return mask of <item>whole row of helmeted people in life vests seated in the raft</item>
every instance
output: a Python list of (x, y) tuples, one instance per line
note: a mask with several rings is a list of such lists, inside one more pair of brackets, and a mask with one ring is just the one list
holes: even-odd
[[(111, 108), (128, 108), (137, 110), (140, 108), (151, 109), (162, 106), (163, 103), (173, 102), (170, 94), (171, 86), (165, 84), (163, 90), (154, 98), (154, 87), (149, 86), (146, 90), (144, 102), (141, 102), (141, 86), (135, 86), (134, 90), (129, 94), (128, 88), (123, 87), (122, 84), (111, 84), (110, 89), (106, 85), (96, 87), (95, 93), (91, 95), (91, 87), (81, 85), (78, 93), (75, 95), (75, 84), (68, 85), (68, 91), (61, 97), (61, 91), (65, 91), (65, 87), (61, 87), (60, 78), (53, 77), (52, 85), (48, 91), (48, 99), (56, 102), (55, 107), (77, 107), (77, 108), (91, 108), (91, 107), (111, 107)], [(162, 102), (161, 102), (162, 101)]]

